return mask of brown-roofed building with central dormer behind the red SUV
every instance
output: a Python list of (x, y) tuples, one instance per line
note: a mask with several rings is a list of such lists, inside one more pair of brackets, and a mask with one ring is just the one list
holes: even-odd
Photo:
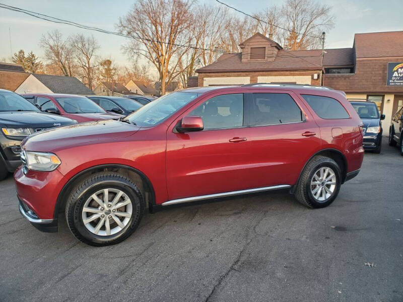
[[(216, 62), (197, 69), (197, 86), (250, 83), (320, 85), (320, 49), (288, 51), (260, 33), (239, 46), (241, 52), (223, 54)], [(350, 70), (354, 64), (351, 48), (326, 49), (323, 64)]]

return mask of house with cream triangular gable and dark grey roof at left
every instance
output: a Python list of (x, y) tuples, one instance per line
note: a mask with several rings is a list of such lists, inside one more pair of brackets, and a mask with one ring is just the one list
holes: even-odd
[(27, 73), (28, 77), (15, 90), (16, 93), (60, 93), (93, 95), (94, 93), (76, 77)]

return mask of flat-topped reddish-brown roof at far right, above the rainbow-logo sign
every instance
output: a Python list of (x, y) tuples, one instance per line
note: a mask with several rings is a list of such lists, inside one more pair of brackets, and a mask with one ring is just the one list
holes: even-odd
[(403, 56), (403, 31), (354, 35), (357, 58)]

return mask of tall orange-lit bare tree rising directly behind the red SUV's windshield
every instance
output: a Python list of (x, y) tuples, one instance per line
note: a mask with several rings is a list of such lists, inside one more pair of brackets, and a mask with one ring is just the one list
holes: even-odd
[(190, 0), (138, 0), (119, 20), (120, 32), (132, 38), (126, 51), (157, 68), (161, 94), (180, 73), (177, 67), (189, 48), (191, 5)]

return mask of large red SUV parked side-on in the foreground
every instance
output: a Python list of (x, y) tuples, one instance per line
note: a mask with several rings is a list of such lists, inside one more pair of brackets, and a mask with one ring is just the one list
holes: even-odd
[(126, 118), (49, 129), (22, 143), (20, 211), (84, 243), (118, 243), (172, 204), (288, 189), (328, 206), (364, 157), (362, 123), (342, 92), (247, 85), (187, 89)]

